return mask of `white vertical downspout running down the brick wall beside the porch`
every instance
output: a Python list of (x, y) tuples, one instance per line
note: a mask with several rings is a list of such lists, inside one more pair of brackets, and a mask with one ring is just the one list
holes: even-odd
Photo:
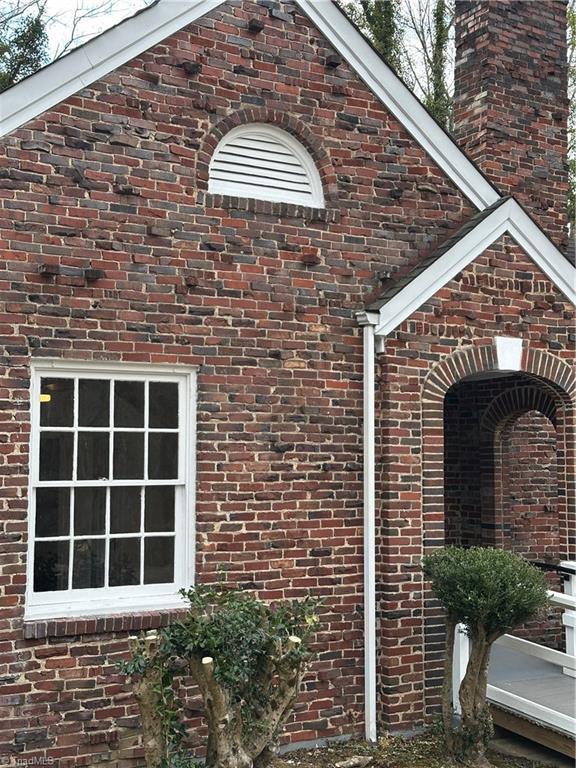
[(378, 313), (356, 315), (364, 343), (364, 706), (365, 737), (377, 740), (376, 729), (376, 475), (374, 328)]

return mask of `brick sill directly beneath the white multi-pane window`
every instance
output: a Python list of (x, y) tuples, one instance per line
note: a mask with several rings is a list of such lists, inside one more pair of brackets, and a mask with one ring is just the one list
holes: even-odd
[(185, 613), (186, 608), (168, 608), (166, 610), (119, 613), (108, 616), (25, 620), (23, 635), (25, 640), (41, 640), (46, 637), (140, 632), (165, 627), (176, 618), (181, 618)]

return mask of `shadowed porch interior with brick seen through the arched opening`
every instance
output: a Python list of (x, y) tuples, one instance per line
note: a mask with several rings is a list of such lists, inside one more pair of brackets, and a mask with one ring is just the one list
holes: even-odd
[[(557, 563), (563, 551), (558, 483), (557, 412), (562, 399), (524, 373), (462, 379), (444, 400), (445, 542), (500, 547)], [(555, 572), (550, 589), (562, 591)], [(561, 611), (515, 634), (560, 648)]]

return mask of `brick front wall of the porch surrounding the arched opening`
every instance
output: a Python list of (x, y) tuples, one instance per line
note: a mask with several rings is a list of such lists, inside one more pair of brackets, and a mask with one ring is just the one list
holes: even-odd
[(386, 340), (379, 357), (378, 668), (383, 711), (393, 723), (421, 722), (439, 704), (443, 619), (419, 563), (445, 541), (446, 393), (498, 369), (497, 335), (525, 340), (523, 372), (547, 381), (558, 401), (558, 554), (576, 551), (573, 321), (566, 299), (505, 238)]

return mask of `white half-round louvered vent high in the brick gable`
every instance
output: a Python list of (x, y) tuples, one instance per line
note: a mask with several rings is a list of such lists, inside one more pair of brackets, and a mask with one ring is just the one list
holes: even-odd
[(210, 192), (324, 207), (322, 182), (308, 151), (286, 131), (264, 123), (233, 128), (210, 163)]

